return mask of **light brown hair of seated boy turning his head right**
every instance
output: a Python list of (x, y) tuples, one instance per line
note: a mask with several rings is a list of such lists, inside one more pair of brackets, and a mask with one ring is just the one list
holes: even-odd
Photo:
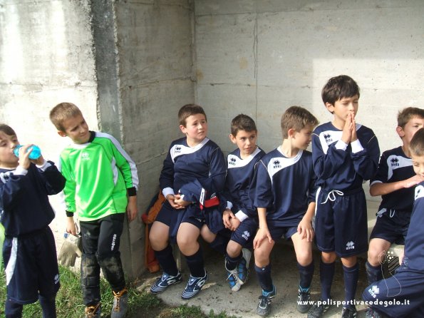
[(311, 112), (306, 108), (300, 106), (289, 107), (281, 116), (281, 131), (283, 138), (289, 138), (289, 129), (300, 131), (306, 127), (306, 125), (316, 126), (319, 121), (316, 119)]

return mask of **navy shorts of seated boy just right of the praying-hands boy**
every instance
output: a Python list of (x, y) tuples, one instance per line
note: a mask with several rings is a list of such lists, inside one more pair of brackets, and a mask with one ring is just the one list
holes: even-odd
[(386, 211), (383, 214), (377, 213), (376, 225), (371, 232), (370, 240), (381, 238), (391, 244), (405, 244), (406, 233), (410, 222), (410, 212), (391, 212)]

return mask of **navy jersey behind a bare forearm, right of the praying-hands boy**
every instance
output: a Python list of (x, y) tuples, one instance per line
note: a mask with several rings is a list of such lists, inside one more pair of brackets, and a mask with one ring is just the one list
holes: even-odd
[[(412, 178), (415, 175), (412, 160), (403, 153), (402, 147), (383, 152), (378, 164), (377, 175), (370, 184), (394, 183)], [(403, 188), (387, 195), (381, 195), (381, 204), (378, 210), (412, 211), (414, 202), (414, 188)]]

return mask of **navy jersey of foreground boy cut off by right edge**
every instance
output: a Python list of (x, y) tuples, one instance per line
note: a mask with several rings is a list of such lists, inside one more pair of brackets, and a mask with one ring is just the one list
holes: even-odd
[(424, 270), (424, 181), (415, 187), (415, 201), (405, 238), (406, 264), (412, 270)]

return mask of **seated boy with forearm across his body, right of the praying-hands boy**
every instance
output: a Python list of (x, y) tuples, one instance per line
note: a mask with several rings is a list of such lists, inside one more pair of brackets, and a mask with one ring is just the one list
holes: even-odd
[[(415, 132), (423, 126), (423, 109), (408, 107), (398, 113), (396, 132), (403, 145), (386, 150), (381, 155), (377, 175), (371, 179), (371, 195), (381, 195), (382, 200), (368, 247), (368, 284), (383, 279), (381, 262), (391, 245), (405, 244), (414, 202), (414, 187), (423, 181), (423, 178), (414, 172), (409, 144)], [(370, 308), (366, 317), (380, 316)]]

